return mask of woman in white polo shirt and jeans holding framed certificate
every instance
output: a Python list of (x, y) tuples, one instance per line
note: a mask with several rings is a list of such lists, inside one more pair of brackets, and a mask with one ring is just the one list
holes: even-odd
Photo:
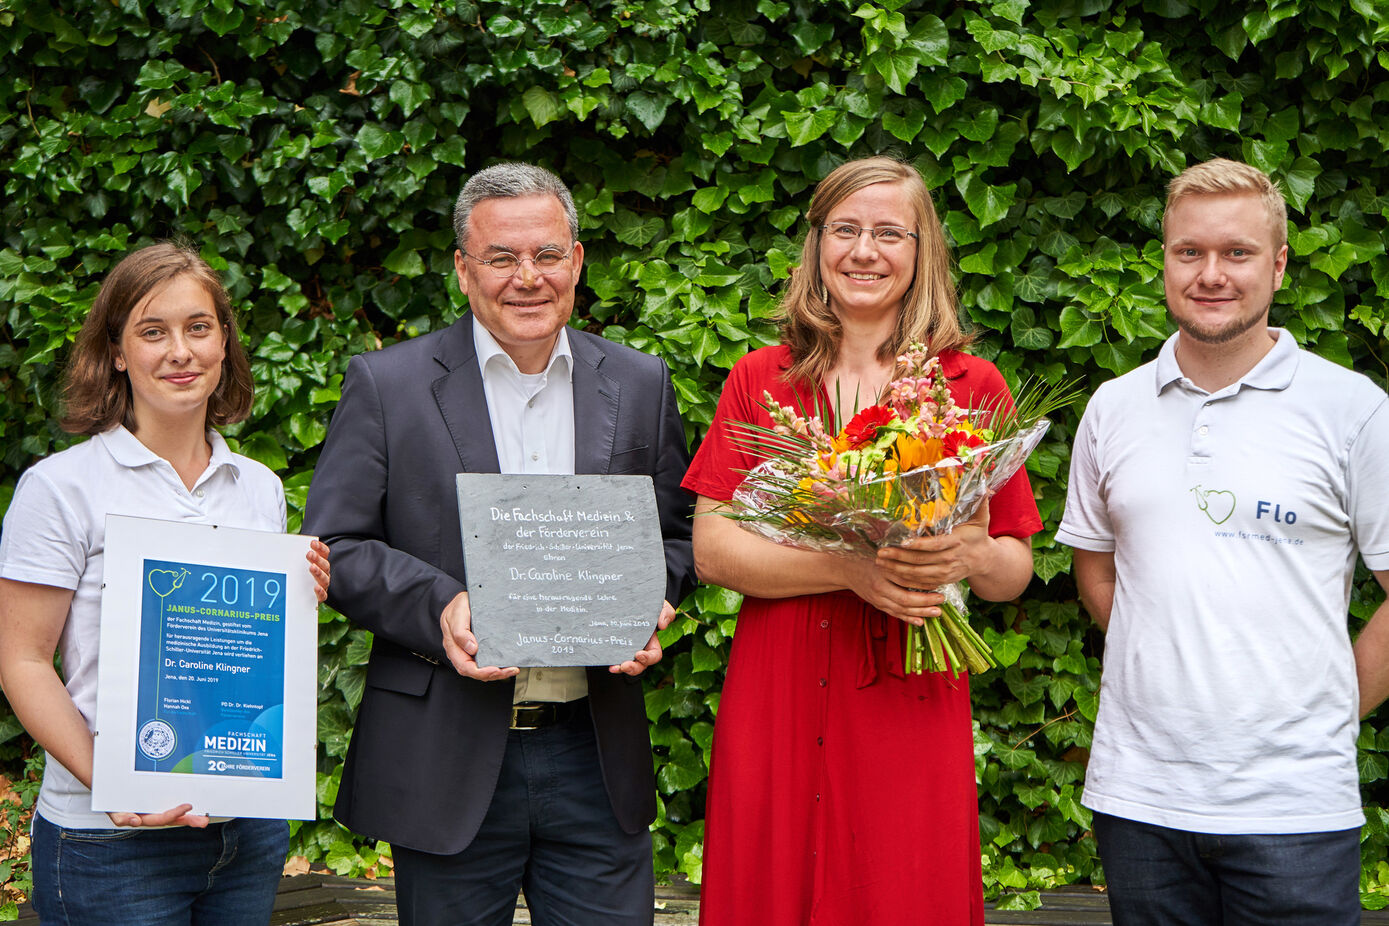
[[(210, 822), (190, 804), (90, 809), (106, 515), (285, 529), (279, 479), (213, 429), (250, 412), (251, 375), (207, 262), (174, 244), (122, 260), (74, 344), (64, 400), (64, 429), (90, 440), (21, 476), (0, 534), (0, 683), (49, 754), (33, 905), (44, 926), (264, 926), (283, 820)], [(328, 548), (313, 547), (306, 568), (322, 601)]]

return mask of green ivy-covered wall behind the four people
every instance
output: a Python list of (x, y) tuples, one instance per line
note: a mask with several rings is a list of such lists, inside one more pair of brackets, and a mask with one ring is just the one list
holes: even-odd
[[(811, 187), (879, 151), (926, 176), (975, 350), (1014, 380), (1092, 389), (1156, 353), (1164, 185), (1221, 154), (1292, 201), (1275, 323), (1383, 383), (1386, 39), (1372, 0), (0, 0), (0, 508), (69, 443), (56, 386), (101, 275), (181, 236), (224, 272), (253, 355), (254, 412), (228, 436), (281, 473), (297, 526), (349, 357), (463, 311), (450, 207), (499, 158), (572, 185), (576, 323), (667, 360), (692, 443), (726, 369), (775, 337)], [(1103, 640), (1051, 540), (1078, 414), (1028, 464), (1038, 578), (979, 608), (1004, 666), (974, 684), (985, 879), (1017, 905), (1096, 873), (1078, 798)], [(1357, 584), (1357, 619), (1374, 603)], [(649, 673), (664, 873), (699, 876), (736, 611), (701, 589)], [(328, 812), (371, 641), (325, 611), (319, 643), (322, 819), (294, 852), (383, 870)], [(1383, 712), (1360, 746), (1379, 907)], [(8, 776), (31, 750), (0, 709)], [(22, 865), (0, 873), (22, 886)]]

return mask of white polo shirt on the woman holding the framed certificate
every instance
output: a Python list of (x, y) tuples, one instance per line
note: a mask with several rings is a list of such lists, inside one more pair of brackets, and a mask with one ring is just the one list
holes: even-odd
[[(74, 590), (58, 653), (68, 694), (88, 729), (96, 725), (106, 516), (285, 529), (279, 478), (233, 454), (217, 432), (207, 439), (213, 457), (192, 489), (167, 460), (119, 426), (40, 460), (15, 486), (0, 533), (0, 576)], [(51, 755), (38, 809), (58, 826), (115, 829), (106, 814), (92, 811), (92, 793)]]

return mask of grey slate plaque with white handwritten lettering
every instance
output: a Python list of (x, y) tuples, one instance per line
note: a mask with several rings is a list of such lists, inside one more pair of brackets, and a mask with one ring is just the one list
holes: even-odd
[(478, 665), (615, 665), (646, 646), (665, 598), (650, 476), (457, 480)]

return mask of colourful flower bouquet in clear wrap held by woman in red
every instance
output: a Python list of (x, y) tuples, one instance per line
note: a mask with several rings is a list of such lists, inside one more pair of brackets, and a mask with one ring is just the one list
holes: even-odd
[[(821, 415), (765, 407), (772, 428), (735, 425), (735, 440), (768, 457), (747, 473), (728, 516), (776, 543), (874, 555), (915, 536), (947, 533), (1017, 472), (1050, 426), (1045, 415), (1075, 400), (1070, 385), (1024, 390), (1015, 404), (961, 408), (940, 361), (913, 344), (886, 398), (858, 411), (839, 433)], [(907, 626), (911, 673), (997, 665), (970, 626), (963, 583), (945, 594), (939, 618)]]

